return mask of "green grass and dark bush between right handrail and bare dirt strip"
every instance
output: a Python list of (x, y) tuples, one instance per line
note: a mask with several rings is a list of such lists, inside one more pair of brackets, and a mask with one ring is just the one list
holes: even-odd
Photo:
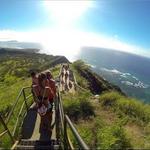
[[(131, 148), (125, 130), (119, 123), (108, 125), (102, 118), (96, 115), (95, 107), (91, 102), (91, 94), (77, 92), (75, 95), (64, 94), (62, 96), (64, 110), (74, 121), (80, 136), (92, 149), (124, 149)], [(78, 147), (77, 141), (69, 132), (74, 147)]]

